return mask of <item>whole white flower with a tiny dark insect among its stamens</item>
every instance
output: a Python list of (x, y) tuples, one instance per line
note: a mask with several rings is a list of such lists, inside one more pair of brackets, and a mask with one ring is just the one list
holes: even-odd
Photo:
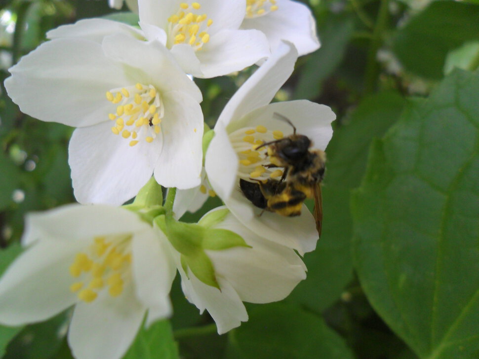
[[(119, 34), (105, 36), (112, 26)], [(24, 113), (78, 127), (69, 164), (80, 203), (119, 205), (152, 174), (165, 187), (200, 184), (201, 93), (161, 43), (98, 19), (48, 36), (5, 87)]]

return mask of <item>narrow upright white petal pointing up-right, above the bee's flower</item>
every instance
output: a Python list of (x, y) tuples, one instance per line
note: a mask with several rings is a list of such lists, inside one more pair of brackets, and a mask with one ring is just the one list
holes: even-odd
[(227, 126), (253, 109), (268, 105), (293, 72), (297, 57), (293, 45), (282, 43), (233, 95), (221, 112), (217, 125), (223, 123)]

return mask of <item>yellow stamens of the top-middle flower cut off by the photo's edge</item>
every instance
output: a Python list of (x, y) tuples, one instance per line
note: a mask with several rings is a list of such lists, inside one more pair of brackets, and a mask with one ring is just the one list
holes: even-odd
[(200, 8), (198, 2), (191, 5), (186, 2), (180, 4), (180, 9), (168, 18), (166, 47), (185, 43), (199, 51), (209, 41), (208, 28), (213, 20), (208, 19), (206, 14), (200, 14)]

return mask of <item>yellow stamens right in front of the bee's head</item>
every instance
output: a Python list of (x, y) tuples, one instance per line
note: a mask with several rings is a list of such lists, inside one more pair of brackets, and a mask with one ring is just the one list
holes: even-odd
[(244, 127), (229, 135), (231, 144), (239, 157), (238, 176), (247, 181), (279, 178), (282, 168), (271, 164), (268, 147), (258, 146), (283, 138), (281, 131), (270, 131), (264, 126)]

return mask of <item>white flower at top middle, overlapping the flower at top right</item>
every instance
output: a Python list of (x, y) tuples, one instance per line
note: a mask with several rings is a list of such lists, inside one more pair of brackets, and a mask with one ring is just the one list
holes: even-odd
[(195, 77), (239, 71), (270, 55), (263, 33), (239, 30), (244, 0), (139, 0), (138, 5), (147, 38), (164, 43)]

